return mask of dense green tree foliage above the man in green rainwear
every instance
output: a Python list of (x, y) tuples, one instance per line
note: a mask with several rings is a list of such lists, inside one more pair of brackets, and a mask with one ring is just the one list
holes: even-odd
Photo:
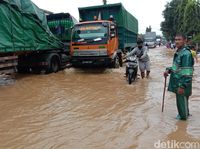
[(200, 33), (200, 0), (172, 0), (166, 4), (163, 16), (161, 30), (167, 40), (173, 40), (176, 33)]

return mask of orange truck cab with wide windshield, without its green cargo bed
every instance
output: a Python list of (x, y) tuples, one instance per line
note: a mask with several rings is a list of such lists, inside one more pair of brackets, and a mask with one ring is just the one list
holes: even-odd
[(72, 29), (70, 55), (73, 65), (119, 67), (121, 52), (116, 24), (112, 21), (87, 21)]

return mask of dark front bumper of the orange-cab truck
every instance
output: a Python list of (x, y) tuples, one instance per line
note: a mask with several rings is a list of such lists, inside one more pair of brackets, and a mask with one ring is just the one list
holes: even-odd
[(73, 56), (71, 59), (73, 66), (110, 66), (112, 63), (112, 58), (108, 56), (101, 57), (79, 57)]

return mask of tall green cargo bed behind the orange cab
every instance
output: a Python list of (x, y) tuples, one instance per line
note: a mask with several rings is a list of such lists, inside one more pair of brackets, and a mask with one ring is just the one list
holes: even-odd
[(79, 8), (79, 15), (82, 21), (92, 21), (94, 16), (97, 16), (97, 19), (109, 20), (112, 16), (117, 25), (119, 48), (129, 49), (135, 46), (138, 20), (121, 3)]

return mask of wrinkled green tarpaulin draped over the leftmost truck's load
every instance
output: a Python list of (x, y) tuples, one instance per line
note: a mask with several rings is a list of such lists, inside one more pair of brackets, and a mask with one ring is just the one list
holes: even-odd
[(30, 0), (0, 1), (0, 52), (60, 48), (44, 12)]

